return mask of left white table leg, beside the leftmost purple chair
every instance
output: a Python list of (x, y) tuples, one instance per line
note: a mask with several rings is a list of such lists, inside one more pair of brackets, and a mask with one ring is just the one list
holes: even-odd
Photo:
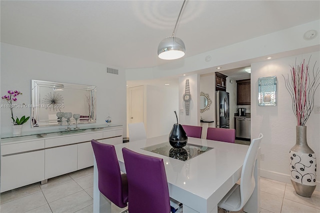
[(94, 158), (93, 162), (93, 212), (111, 212), (111, 201), (98, 188), (98, 169)]

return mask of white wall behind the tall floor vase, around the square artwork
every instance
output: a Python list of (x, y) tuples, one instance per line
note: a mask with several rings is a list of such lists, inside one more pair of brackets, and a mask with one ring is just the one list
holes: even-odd
[[(319, 52), (312, 52), (310, 67), (319, 67)], [(281, 74), (287, 76), (290, 65), (296, 59), (299, 64), (302, 58), (309, 59), (310, 54), (296, 55), (251, 64), (251, 138), (263, 133), (261, 154), (264, 160), (260, 161), (261, 176), (289, 181), (289, 150), (295, 144), (296, 118), (292, 111), (291, 98), (284, 85)], [(310, 70), (311, 71), (311, 70)], [(258, 106), (259, 77), (276, 76), (277, 78), (277, 104), (276, 106)], [(320, 88), (315, 93), (314, 104), (320, 105)], [(314, 110), (306, 123), (307, 142), (320, 162), (320, 114)], [(319, 187), (320, 172), (316, 172), (317, 187)]]

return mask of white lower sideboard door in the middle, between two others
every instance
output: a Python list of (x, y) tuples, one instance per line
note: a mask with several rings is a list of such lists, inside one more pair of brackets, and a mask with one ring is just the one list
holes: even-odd
[(77, 145), (45, 149), (45, 179), (77, 169)]

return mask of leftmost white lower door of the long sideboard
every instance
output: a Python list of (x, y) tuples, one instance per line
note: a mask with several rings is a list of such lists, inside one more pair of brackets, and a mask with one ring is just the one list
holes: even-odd
[(44, 180), (44, 150), (1, 156), (1, 192)]

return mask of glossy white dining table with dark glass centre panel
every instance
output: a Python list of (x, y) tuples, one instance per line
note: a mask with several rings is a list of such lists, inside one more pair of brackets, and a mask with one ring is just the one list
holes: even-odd
[[(217, 204), (241, 176), (241, 169), (248, 145), (188, 137), (188, 144), (213, 147), (191, 159), (182, 161), (142, 148), (168, 142), (168, 135), (147, 138), (115, 145), (120, 170), (125, 172), (122, 148), (163, 158), (169, 195), (183, 203), (187, 212), (217, 212)], [(254, 168), (255, 188), (245, 204), (245, 212), (259, 212), (259, 161)], [(93, 211), (111, 212), (111, 203), (98, 190), (97, 168), (93, 166)], [(143, 198), (142, 198), (143, 199)]]

